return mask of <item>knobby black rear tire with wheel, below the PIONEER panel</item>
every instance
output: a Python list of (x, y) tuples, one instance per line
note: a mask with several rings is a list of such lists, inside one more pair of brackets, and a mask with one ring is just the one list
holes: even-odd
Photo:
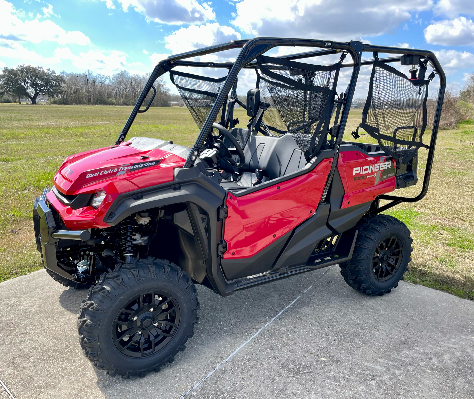
[(383, 214), (362, 219), (357, 229), (354, 254), (339, 265), (341, 275), (360, 293), (390, 293), (411, 261), (410, 230), (405, 223)]

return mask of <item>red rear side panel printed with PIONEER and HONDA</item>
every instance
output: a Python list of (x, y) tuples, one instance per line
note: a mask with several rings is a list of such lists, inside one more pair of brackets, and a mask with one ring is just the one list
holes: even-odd
[(367, 157), (357, 151), (344, 151), (339, 153), (337, 169), (346, 193), (341, 208), (372, 201), (395, 189), (392, 157)]

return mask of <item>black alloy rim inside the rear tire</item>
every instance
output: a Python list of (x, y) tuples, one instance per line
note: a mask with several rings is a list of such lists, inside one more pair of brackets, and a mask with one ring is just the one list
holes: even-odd
[(382, 240), (374, 252), (372, 271), (378, 281), (390, 279), (398, 270), (403, 258), (403, 246), (397, 237)]

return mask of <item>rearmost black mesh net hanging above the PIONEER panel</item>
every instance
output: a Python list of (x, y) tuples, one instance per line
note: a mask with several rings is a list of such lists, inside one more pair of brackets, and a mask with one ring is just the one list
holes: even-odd
[(428, 80), (410, 80), (401, 71), (374, 60), (362, 127), (380, 147), (401, 163), (423, 144), (427, 124)]

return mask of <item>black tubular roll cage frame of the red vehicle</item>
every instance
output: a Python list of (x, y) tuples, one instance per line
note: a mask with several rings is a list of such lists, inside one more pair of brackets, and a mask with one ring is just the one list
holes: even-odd
[[(343, 63), (341, 65), (341, 68), (353, 67), (353, 71), (352, 71), (351, 80), (346, 89), (346, 95), (344, 98), (344, 109), (340, 117), (337, 138), (334, 143), (334, 150), (335, 150), (334, 159), (332, 162), (331, 170), (330, 170), (326, 185), (324, 187), (320, 204), (326, 203), (328, 189), (331, 185), (332, 177), (336, 169), (337, 157), (339, 154), (339, 147), (341, 146), (341, 143), (342, 143), (342, 138), (343, 138), (344, 130), (346, 127), (346, 122), (347, 122), (347, 118), (350, 111), (350, 104), (352, 103), (352, 98), (354, 95), (354, 91), (356, 89), (356, 83), (357, 83), (360, 67), (362, 65), (371, 65), (374, 63), (373, 59), (362, 61), (362, 53), (371, 52), (373, 53), (374, 58), (378, 56), (378, 53), (419, 55), (421, 57), (424, 57), (425, 60), (430, 63), (431, 67), (435, 70), (436, 74), (438, 75), (440, 82), (439, 82), (439, 90), (438, 90), (438, 101), (436, 104), (435, 117), (433, 120), (433, 127), (431, 130), (431, 138), (430, 138), (429, 149), (428, 149), (428, 158), (426, 162), (425, 176), (423, 179), (423, 186), (421, 188), (421, 192), (419, 193), (419, 195), (412, 198), (396, 196), (396, 195), (379, 195), (378, 199), (389, 200), (392, 202), (389, 204), (383, 205), (381, 207), (377, 207), (377, 209), (375, 209), (372, 212), (376, 212), (376, 213), (383, 212), (386, 209), (391, 208), (392, 206), (400, 204), (401, 202), (411, 203), (411, 202), (417, 202), (421, 200), (428, 192), (428, 185), (429, 185), (429, 179), (431, 176), (431, 168), (433, 166), (436, 140), (438, 138), (439, 120), (441, 117), (441, 109), (443, 106), (443, 98), (444, 98), (445, 89), (446, 89), (446, 75), (441, 67), (441, 64), (436, 58), (436, 55), (428, 50), (376, 46), (372, 44), (363, 44), (362, 42), (357, 42), (357, 41), (350, 41), (349, 43), (343, 43), (343, 42), (332, 42), (332, 41), (323, 41), (323, 40), (314, 40), (314, 39), (256, 37), (250, 40), (235, 40), (235, 41), (231, 41), (224, 44), (218, 44), (218, 45), (214, 45), (210, 47), (204, 47), (204, 48), (194, 50), (194, 51), (189, 51), (186, 53), (172, 55), (168, 57), (166, 60), (159, 62), (155, 66), (155, 69), (153, 70), (150, 77), (148, 78), (148, 81), (146, 82), (146, 85), (143, 91), (141, 92), (137, 100), (137, 103), (135, 104), (132, 110), (132, 113), (128, 117), (127, 123), (125, 124), (122, 131), (120, 132), (115, 145), (118, 145), (119, 143), (125, 140), (128, 130), (130, 129), (130, 126), (135, 120), (135, 117), (137, 116), (137, 114), (140, 112), (145, 112), (149, 108), (156, 93), (153, 83), (155, 82), (157, 78), (164, 75), (164, 73), (170, 71), (172, 68), (176, 66), (227, 68), (229, 70), (227, 80), (224, 82), (222, 89), (219, 91), (219, 95), (216, 98), (214, 106), (212, 106), (210, 113), (207, 119), (205, 120), (201, 128), (201, 131), (196, 139), (196, 142), (194, 143), (189, 153), (186, 163), (183, 166), (183, 168), (192, 168), (195, 160), (197, 159), (197, 156), (199, 155), (201, 151), (201, 147), (206, 137), (208, 136), (208, 133), (211, 130), (212, 124), (216, 120), (220, 106), (224, 104), (224, 101), (228, 97), (228, 93), (230, 92), (231, 89), (233, 89), (233, 86), (237, 80), (237, 75), (239, 71), (243, 68), (255, 68), (255, 66), (257, 65), (257, 63), (254, 61), (255, 58), (267, 52), (271, 48), (277, 47), (277, 46), (294, 46), (294, 47), (298, 46), (298, 47), (320, 48), (320, 50), (314, 50), (314, 51), (309, 51), (309, 52), (304, 52), (304, 53), (296, 53), (296, 54), (279, 57), (286, 60), (298, 60), (298, 59), (308, 58), (308, 57), (313, 57), (313, 56), (336, 54), (342, 51), (349, 53), (353, 60), (352, 63)], [(186, 58), (197, 57), (197, 56), (201, 56), (205, 54), (217, 53), (220, 51), (237, 49), (237, 48), (241, 48), (242, 50), (238, 54), (235, 62), (185, 61)], [(401, 60), (401, 57), (399, 56), (399, 57), (383, 58), (383, 59), (380, 59), (379, 61), (381, 62), (397, 62), (398, 61), (399, 62), (400, 60)], [(145, 101), (146, 96), (148, 95), (148, 92), (150, 91), (150, 89), (154, 90), (154, 93), (152, 97), (150, 98), (150, 100), (148, 101), (146, 108), (144, 110), (140, 110), (142, 103)]]

